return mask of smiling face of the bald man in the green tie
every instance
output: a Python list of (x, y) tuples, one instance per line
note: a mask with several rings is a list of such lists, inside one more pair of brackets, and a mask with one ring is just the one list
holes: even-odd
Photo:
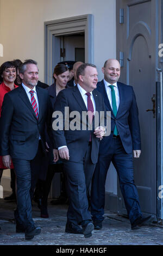
[(108, 63), (106, 63), (105, 68), (102, 68), (102, 72), (104, 74), (104, 79), (106, 80), (106, 82), (114, 84), (120, 78), (120, 63), (116, 59), (108, 60)]

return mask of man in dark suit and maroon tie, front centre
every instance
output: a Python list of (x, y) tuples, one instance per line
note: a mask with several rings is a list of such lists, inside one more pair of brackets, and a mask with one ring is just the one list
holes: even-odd
[[(94, 229), (87, 195), (90, 191), (91, 179), (97, 162), (99, 141), (105, 133), (105, 129), (99, 125), (99, 121), (95, 127), (95, 118), (92, 119), (92, 114), (105, 110), (103, 97), (96, 90), (97, 75), (95, 65), (80, 65), (77, 70), (77, 86), (62, 90), (54, 105), (54, 113), (60, 111), (65, 116), (65, 107), (68, 107), (70, 115), (76, 111), (78, 116), (76, 120), (78, 129), (73, 129), (73, 127), (71, 129), (72, 117), (68, 120), (64, 119), (69, 128), (60, 127), (59, 130), (55, 127), (55, 123), (58, 122), (55, 118), (53, 129), (55, 145), (59, 150), (59, 156), (64, 161), (67, 192), (70, 200), (65, 231), (74, 233), (73, 231), (78, 228), (78, 224), (81, 224), (85, 237), (90, 237), (91, 231)], [(91, 114), (89, 115), (90, 124), (92, 123), (91, 130), (87, 129), (88, 119), (86, 129), (82, 130), (84, 111)]]

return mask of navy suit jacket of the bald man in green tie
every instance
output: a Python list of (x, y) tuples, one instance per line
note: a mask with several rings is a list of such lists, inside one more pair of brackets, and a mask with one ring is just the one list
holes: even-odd
[[(132, 150), (141, 149), (139, 113), (136, 98), (133, 87), (120, 82), (117, 82), (117, 86), (120, 94), (120, 106), (116, 117), (112, 112), (103, 80), (98, 82), (97, 90), (104, 97), (106, 111), (111, 111), (111, 133), (114, 131), (116, 124), (124, 150), (126, 150), (126, 153), (131, 153)], [(107, 148), (110, 147), (110, 137), (111, 135), (102, 139), (99, 150), (100, 154), (104, 154)]]

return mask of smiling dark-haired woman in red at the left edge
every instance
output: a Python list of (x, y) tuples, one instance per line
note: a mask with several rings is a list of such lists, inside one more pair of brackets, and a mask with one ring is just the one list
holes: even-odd
[[(4, 95), (11, 90), (15, 89), (17, 86), (14, 83), (16, 79), (16, 66), (14, 62), (4, 62), (0, 67), (0, 117), (1, 117), (1, 109), (2, 109), (2, 103)], [(5, 200), (14, 200), (16, 199), (16, 193), (15, 193), (15, 173), (14, 173), (14, 166), (11, 161), (10, 164), (10, 172), (11, 172), (11, 188), (12, 188), (12, 194), (8, 198), (4, 198)], [(2, 156), (0, 156), (0, 182), (1, 177), (4, 169), (8, 169), (4, 166), (2, 161)]]

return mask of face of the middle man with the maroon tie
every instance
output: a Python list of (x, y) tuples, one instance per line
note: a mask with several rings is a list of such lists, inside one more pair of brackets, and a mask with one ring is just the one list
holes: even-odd
[(86, 90), (86, 92), (92, 92), (92, 90), (96, 89), (98, 82), (98, 73), (97, 69), (92, 66), (87, 66), (85, 68), (84, 75), (79, 76), (79, 83)]

